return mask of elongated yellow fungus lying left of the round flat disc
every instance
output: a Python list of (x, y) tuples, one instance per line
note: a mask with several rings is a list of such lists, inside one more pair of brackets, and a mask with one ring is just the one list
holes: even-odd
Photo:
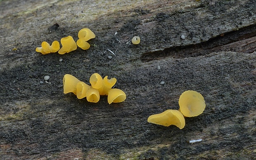
[(149, 118), (147, 118), (147, 122), (166, 127), (175, 125), (180, 129), (185, 127), (185, 118), (183, 117), (183, 114), (178, 110), (171, 109), (168, 109), (163, 113), (150, 115)]

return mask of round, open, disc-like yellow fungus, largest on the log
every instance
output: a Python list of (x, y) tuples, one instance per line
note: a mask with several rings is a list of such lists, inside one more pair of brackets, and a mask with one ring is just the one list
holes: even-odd
[(179, 99), (180, 112), (186, 117), (194, 117), (203, 113), (204, 97), (192, 90), (183, 92)]

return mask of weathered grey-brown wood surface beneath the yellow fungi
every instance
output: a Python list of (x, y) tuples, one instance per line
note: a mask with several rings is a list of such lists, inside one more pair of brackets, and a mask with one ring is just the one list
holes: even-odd
[[(254, 0), (0, 1), (0, 159), (255, 158), (255, 8)], [(96, 35), (90, 49), (35, 52), (43, 41), (77, 40), (85, 27)], [(65, 74), (88, 83), (95, 72), (115, 77), (126, 101), (63, 94)], [(50, 84), (39, 83), (45, 75)], [(178, 109), (189, 89), (206, 110), (184, 129), (147, 122)]]

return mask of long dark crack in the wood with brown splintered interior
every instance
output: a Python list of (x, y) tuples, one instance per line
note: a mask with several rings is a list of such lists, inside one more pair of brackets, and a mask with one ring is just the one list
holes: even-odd
[(148, 62), (166, 57), (187, 58), (210, 54), (212, 52), (232, 51), (252, 53), (256, 50), (256, 24), (241, 28), (237, 31), (222, 33), (205, 42), (192, 45), (175, 46), (162, 51), (142, 54), (140, 60)]

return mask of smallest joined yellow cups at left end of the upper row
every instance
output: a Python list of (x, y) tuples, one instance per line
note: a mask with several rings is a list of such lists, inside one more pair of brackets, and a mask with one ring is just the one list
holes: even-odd
[(40, 52), (42, 54), (54, 53), (59, 50), (59, 42), (57, 40), (52, 42), (52, 45), (43, 41), (41, 44), (42, 47), (36, 47), (36, 52)]

